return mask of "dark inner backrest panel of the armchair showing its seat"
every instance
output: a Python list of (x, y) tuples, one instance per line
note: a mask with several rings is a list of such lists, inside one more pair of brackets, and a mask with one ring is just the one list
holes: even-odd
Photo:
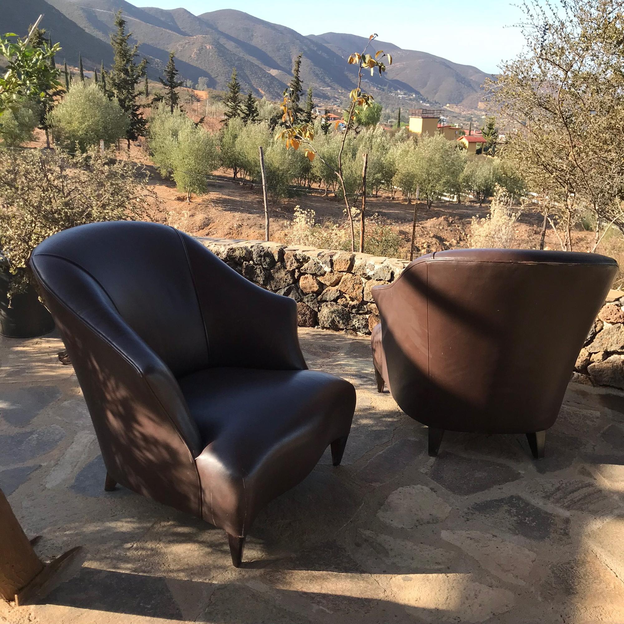
[[(202, 314), (182, 234), (157, 223), (91, 223), (37, 246), (79, 266), (174, 376), (208, 366)], [(59, 269), (55, 280), (62, 280)], [(72, 306), (72, 301), (67, 301)]]

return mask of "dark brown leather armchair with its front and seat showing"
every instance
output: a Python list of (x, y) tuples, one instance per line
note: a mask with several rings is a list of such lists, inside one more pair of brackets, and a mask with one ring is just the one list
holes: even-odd
[(307, 369), (295, 301), (245, 280), (173, 228), (93, 223), (37, 246), (56, 320), (115, 484), (228, 534), (232, 562), (260, 509), (341, 461), (355, 407)]

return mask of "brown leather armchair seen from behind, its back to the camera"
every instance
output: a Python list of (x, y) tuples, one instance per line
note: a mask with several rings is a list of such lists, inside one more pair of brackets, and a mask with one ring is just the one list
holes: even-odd
[(595, 253), (438, 251), (374, 286), (378, 390), (429, 427), (525, 433), (537, 459), (618, 266)]

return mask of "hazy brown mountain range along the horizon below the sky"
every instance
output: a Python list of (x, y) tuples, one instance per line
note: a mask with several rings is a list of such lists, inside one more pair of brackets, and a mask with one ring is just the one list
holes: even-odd
[[(303, 53), (301, 79), (311, 85), (316, 100), (339, 104), (353, 89), (353, 66), (346, 58), (362, 51), (366, 37), (327, 32), (303, 36), (293, 29), (273, 24), (233, 9), (195, 16), (186, 9), (135, 7), (125, 0), (11, 0), (4, 7), (5, 31), (23, 33), (40, 13), (42, 26), (59, 41), (63, 57), (76, 66), (82, 54), (85, 69), (112, 61), (109, 45), (119, 9), (139, 42), (140, 54), (150, 62), (150, 75), (160, 75), (168, 53), (175, 53), (182, 77), (208, 87), (225, 89), (236, 67), (243, 91), (269, 99), (280, 99), (291, 76), (293, 61)], [(3, 31), (4, 32), (4, 31)], [(482, 99), (480, 85), (488, 74), (477, 67), (447, 61), (438, 56), (405, 50), (376, 41), (376, 49), (391, 52), (393, 64), (384, 76), (366, 74), (366, 88), (374, 93), (404, 97), (429, 105), (462, 105), (474, 109)]]

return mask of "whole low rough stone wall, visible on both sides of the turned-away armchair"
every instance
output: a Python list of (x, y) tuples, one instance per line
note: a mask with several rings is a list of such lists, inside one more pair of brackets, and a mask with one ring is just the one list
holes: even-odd
[[(401, 275), (407, 260), (253, 240), (198, 240), (235, 271), (294, 299), (301, 327), (369, 334), (379, 323), (371, 288)], [(611, 291), (587, 336), (572, 381), (624, 390), (624, 292)]]

